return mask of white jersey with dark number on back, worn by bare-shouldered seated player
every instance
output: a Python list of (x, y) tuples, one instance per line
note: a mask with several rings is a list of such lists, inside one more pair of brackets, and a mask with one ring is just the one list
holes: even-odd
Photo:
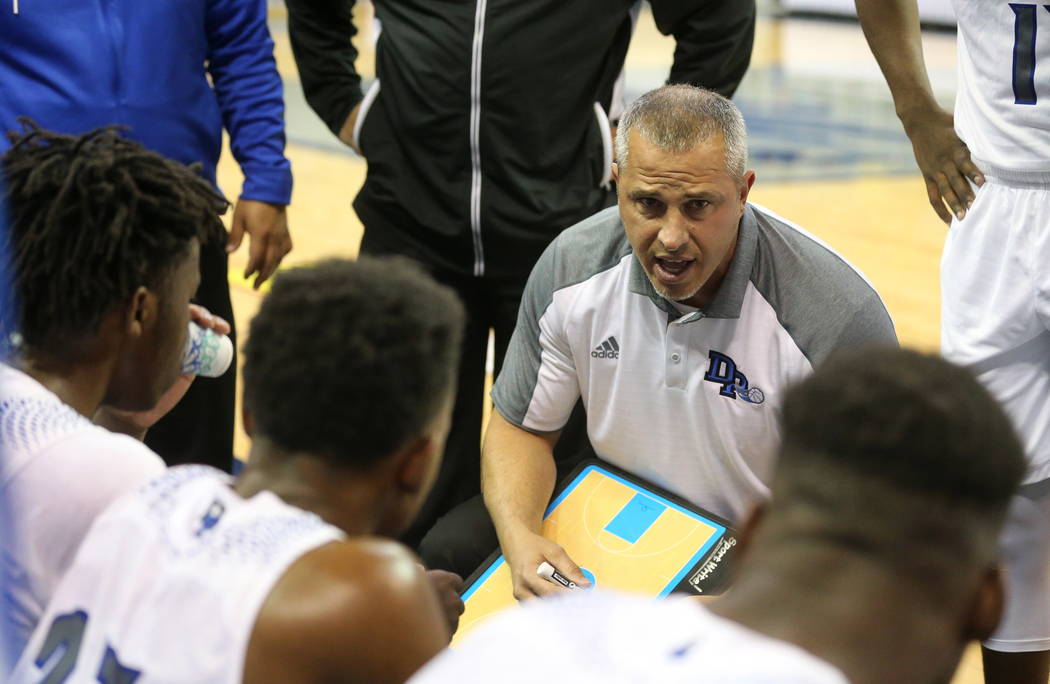
[(239, 683), (277, 579), (343, 534), (230, 485), (212, 468), (173, 468), (99, 516), (10, 681)]

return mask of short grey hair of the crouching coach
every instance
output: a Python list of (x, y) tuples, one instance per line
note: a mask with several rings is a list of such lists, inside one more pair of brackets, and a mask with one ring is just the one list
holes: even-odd
[(726, 142), (726, 171), (742, 179), (748, 170), (748, 130), (743, 117), (727, 98), (692, 85), (665, 85), (627, 107), (616, 128), (616, 161), (627, 165), (632, 130), (671, 152), (686, 152), (712, 136)]

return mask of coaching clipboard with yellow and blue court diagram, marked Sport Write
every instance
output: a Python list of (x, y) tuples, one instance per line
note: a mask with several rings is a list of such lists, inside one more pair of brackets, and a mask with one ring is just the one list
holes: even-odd
[[(724, 519), (593, 459), (562, 481), (542, 534), (561, 544), (594, 586), (649, 596), (720, 594), (736, 545)], [(454, 647), (516, 603), (510, 569), (499, 551), (465, 584)]]

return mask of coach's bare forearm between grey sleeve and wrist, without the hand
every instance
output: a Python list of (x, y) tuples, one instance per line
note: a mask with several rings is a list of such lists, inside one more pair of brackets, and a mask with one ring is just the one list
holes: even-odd
[(481, 491), (500, 542), (521, 532), (539, 534), (554, 491), (558, 434), (537, 435), (492, 412), (481, 457)]

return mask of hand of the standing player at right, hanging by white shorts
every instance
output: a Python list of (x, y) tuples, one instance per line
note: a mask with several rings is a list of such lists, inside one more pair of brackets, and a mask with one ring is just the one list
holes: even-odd
[(952, 116), (936, 108), (904, 116), (901, 121), (911, 140), (933, 211), (946, 224), (951, 223), (951, 214), (962, 221), (974, 200), (968, 181), (984, 185), (984, 175), (970, 159), (966, 143), (956, 134)]

